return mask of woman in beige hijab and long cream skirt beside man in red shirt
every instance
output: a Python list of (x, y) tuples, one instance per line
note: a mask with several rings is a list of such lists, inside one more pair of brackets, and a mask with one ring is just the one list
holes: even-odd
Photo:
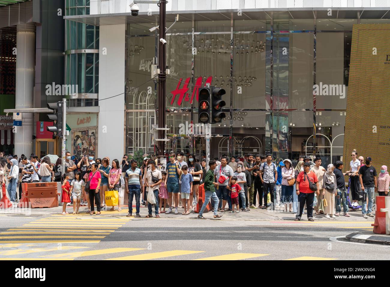
[(323, 195), (324, 195), (324, 199), (326, 199), (326, 201), (328, 202), (328, 206), (324, 207), (324, 214), (325, 217), (328, 219), (330, 219), (330, 217), (336, 218), (334, 211), (335, 211), (335, 195), (336, 195), (337, 183), (336, 183), (336, 175), (333, 173), (333, 169), (335, 169), (333, 164), (328, 164), (328, 168), (324, 173), (324, 181), (323, 181), (323, 189), (324, 189)]

